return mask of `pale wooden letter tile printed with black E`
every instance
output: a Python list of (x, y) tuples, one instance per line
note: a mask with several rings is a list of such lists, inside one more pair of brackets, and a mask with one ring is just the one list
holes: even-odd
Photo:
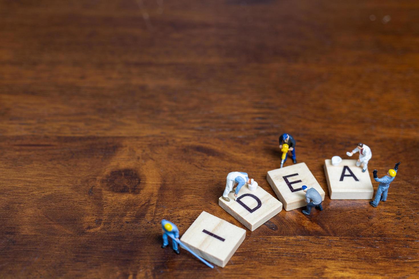
[(268, 171), (266, 180), (268, 180), (269, 185), (271, 185), (287, 211), (307, 205), (305, 192), (301, 188), (303, 185), (307, 185), (308, 188), (315, 188), (321, 195), (321, 199), (324, 200), (323, 189), (305, 163)]

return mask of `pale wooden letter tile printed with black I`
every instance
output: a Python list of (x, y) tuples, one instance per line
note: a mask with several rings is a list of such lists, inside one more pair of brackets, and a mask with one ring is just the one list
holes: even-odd
[(224, 267), (245, 237), (245, 229), (202, 211), (180, 240), (202, 258)]

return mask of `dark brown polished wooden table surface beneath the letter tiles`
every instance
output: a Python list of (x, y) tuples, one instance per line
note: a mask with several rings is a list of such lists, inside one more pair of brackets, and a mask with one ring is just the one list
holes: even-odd
[[(1, 277), (418, 276), (418, 18), (396, 0), (1, 1)], [(218, 206), (226, 175), (274, 195), (283, 132), (323, 212), (246, 229), (225, 268), (160, 248), (163, 218), (244, 228)], [(324, 160), (359, 141), (371, 177), (401, 161), (376, 208), (328, 196)]]

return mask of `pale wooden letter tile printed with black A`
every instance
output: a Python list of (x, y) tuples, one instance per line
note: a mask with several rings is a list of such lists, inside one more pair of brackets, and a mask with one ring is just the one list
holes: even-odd
[(329, 195), (332, 200), (370, 200), (374, 190), (371, 177), (362, 167), (356, 166), (357, 160), (344, 159), (339, 166), (331, 164), (331, 160), (324, 161)]

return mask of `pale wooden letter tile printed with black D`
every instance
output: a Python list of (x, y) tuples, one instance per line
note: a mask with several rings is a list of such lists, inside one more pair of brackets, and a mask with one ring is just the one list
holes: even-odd
[(244, 185), (238, 193), (237, 201), (234, 200), (234, 193), (229, 193), (228, 197), (230, 202), (220, 197), (218, 205), (251, 231), (256, 230), (282, 210), (282, 203), (260, 186), (251, 191), (247, 184)]

